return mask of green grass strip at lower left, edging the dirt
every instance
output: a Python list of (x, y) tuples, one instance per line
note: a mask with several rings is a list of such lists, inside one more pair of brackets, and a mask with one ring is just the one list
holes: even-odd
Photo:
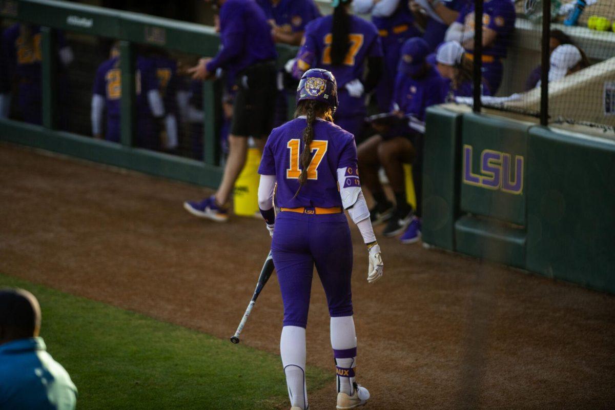
[[(71, 375), (79, 409), (272, 409), (287, 403), (277, 355), (0, 275), (41, 303), (49, 353)], [(329, 380), (308, 369), (317, 390)]]

